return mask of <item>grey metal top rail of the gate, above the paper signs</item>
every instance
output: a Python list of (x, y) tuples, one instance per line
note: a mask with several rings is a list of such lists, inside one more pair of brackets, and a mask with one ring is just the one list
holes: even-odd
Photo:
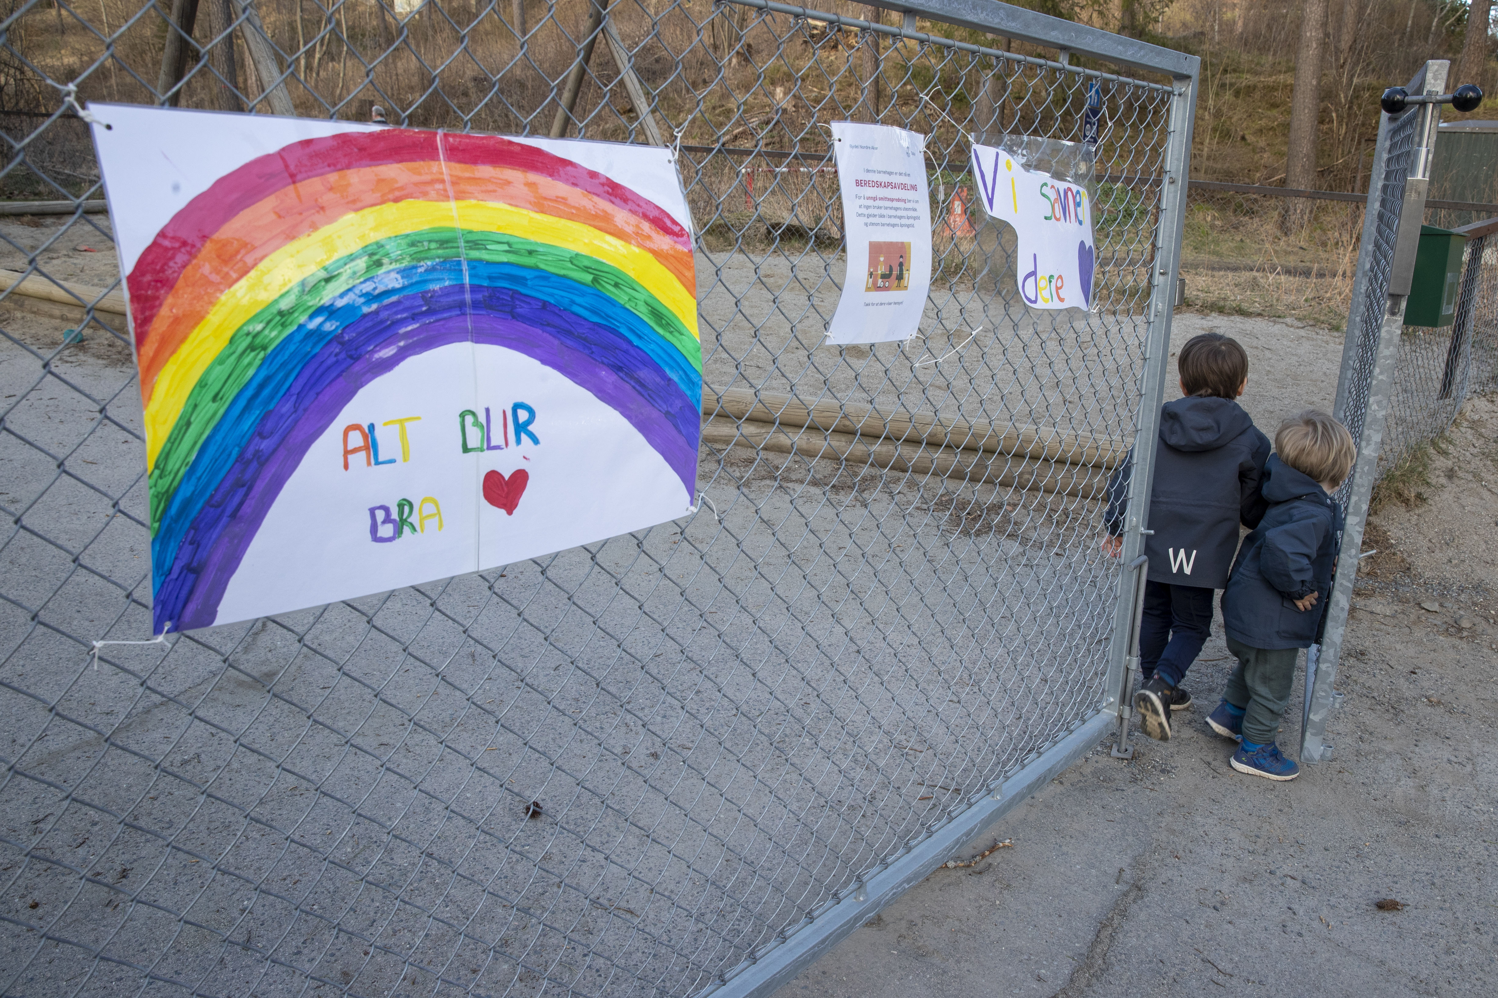
[(897, 3), (873, 0), (870, 6), (911, 12), (957, 27), (1002, 34), (1016, 42), (1044, 48), (1059, 48), (1076, 55), (1091, 55), (1132, 69), (1168, 73), (1176, 79), (1195, 79), (1201, 72), (1201, 60), (1195, 55), (996, 0), (899, 0)]

